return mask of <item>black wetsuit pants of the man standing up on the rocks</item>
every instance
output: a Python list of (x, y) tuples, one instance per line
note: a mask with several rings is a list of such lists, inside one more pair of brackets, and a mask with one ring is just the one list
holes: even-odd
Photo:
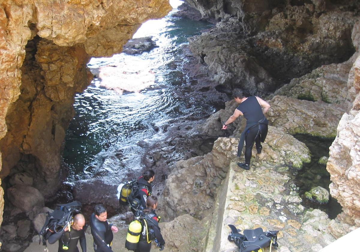
[(254, 142), (255, 142), (255, 146), (256, 149), (261, 149), (261, 143), (260, 143), (260, 135), (262, 134), (267, 134), (267, 125), (266, 124), (258, 124), (254, 127), (252, 127), (251, 129), (249, 129), (246, 132), (246, 136), (245, 136), (245, 163), (247, 165), (250, 164), (250, 159), (251, 159), (251, 153), (252, 153), (252, 147), (254, 146)]

